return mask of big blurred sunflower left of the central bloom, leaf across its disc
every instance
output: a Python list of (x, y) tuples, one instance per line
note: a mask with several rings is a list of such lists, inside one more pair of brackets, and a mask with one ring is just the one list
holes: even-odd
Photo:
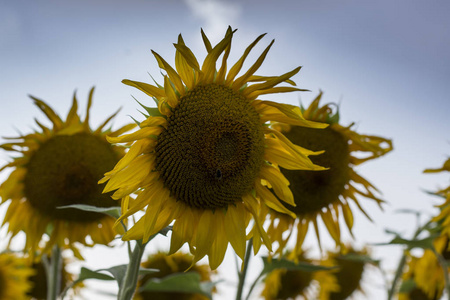
[[(12, 168), (9, 177), (0, 185), (1, 203), (8, 203), (3, 225), (8, 223), (10, 239), (20, 231), (26, 234), (25, 249), (31, 255), (38, 249), (46, 234), (49, 239), (43, 252), (53, 245), (74, 247), (75, 242), (92, 245), (108, 244), (114, 238), (114, 219), (107, 215), (77, 209), (58, 209), (60, 206), (86, 204), (100, 207), (117, 205), (110, 194), (102, 194), (97, 181), (123, 156), (123, 147), (112, 146), (106, 134), (119, 135), (135, 125), (117, 131), (103, 131), (110, 116), (97, 129), (89, 126), (89, 109), (94, 89), (90, 91), (84, 121), (77, 114), (78, 102), (73, 97), (72, 107), (65, 121), (44, 101), (35, 97), (36, 106), (48, 117), (53, 127), (48, 128), (36, 120), (40, 130), (9, 138), (0, 145), (20, 156), (0, 169)], [(10, 201), (8, 201), (10, 200)]]

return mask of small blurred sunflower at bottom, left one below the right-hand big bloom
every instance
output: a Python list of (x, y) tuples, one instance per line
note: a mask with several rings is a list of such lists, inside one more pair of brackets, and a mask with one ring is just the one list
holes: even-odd
[[(304, 253), (286, 258), (295, 262), (312, 263)], [(315, 295), (315, 285), (320, 286), (320, 294)], [(336, 278), (329, 271), (307, 272), (302, 270), (275, 269), (264, 279), (264, 289), (261, 295), (265, 300), (295, 299), (302, 296), (305, 299), (328, 300), (331, 292), (338, 291)]]

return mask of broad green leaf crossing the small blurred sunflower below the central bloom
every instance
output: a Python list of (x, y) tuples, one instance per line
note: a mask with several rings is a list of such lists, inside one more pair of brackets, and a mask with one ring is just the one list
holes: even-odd
[(211, 299), (210, 286), (200, 284), (200, 274), (196, 272), (176, 273), (164, 278), (149, 279), (141, 291), (178, 292), (203, 294)]

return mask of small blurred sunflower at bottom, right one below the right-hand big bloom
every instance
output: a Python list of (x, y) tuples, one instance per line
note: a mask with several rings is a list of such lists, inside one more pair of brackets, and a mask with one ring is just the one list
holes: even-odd
[(344, 300), (355, 291), (362, 291), (361, 281), (368, 262), (373, 260), (370, 259), (367, 249), (358, 251), (352, 247), (341, 246), (339, 252), (328, 252), (324, 265), (339, 267), (333, 272), (339, 288), (330, 292), (327, 299)]

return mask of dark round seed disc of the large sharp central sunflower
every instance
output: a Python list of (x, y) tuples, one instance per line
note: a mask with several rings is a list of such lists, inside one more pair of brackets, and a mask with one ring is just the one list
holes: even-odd
[(180, 99), (158, 138), (165, 186), (187, 205), (227, 207), (248, 193), (263, 163), (264, 133), (250, 101), (232, 89), (200, 85)]

